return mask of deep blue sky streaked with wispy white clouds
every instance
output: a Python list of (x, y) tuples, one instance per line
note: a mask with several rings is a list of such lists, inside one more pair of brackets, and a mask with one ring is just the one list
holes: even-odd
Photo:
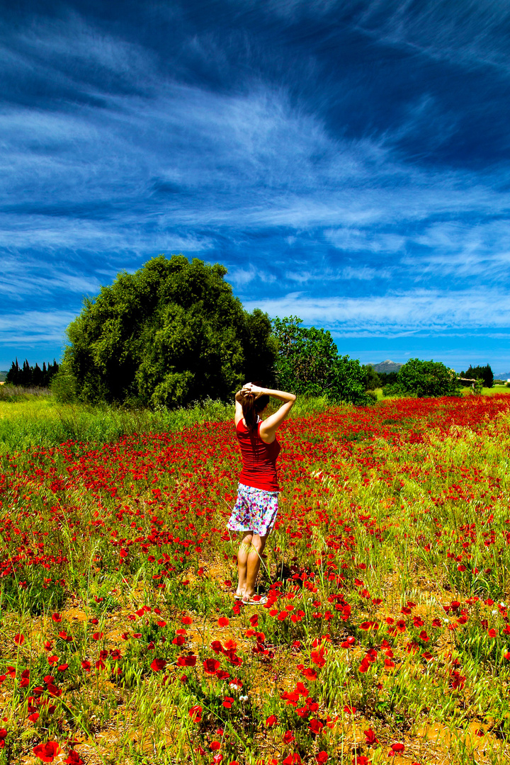
[(362, 363), (510, 369), (508, 2), (13, 5), (0, 369), (161, 252)]

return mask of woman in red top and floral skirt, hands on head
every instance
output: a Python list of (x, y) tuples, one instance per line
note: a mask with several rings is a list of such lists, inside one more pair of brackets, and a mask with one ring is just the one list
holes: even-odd
[[(261, 420), (269, 398), (283, 402), (274, 415)], [(227, 527), (242, 531), (237, 553), (239, 580), (236, 600), (263, 604), (267, 597), (255, 595), (255, 580), (268, 534), (278, 513), (276, 460), (280, 444), (276, 431), (291, 412), (296, 396), (281, 390), (261, 388), (248, 382), (236, 393), (236, 435), (241, 447), (242, 471), (236, 504)]]

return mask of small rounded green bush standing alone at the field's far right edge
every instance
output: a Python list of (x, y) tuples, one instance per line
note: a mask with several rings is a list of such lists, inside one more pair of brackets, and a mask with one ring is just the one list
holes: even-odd
[(440, 361), (410, 359), (398, 372), (397, 381), (385, 386), (385, 396), (459, 396), (460, 384), (456, 372)]

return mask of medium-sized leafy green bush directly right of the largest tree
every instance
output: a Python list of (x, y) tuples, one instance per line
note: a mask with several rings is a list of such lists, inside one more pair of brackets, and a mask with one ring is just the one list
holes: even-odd
[(297, 316), (273, 319), (279, 343), (278, 386), (298, 395), (327, 396), (333, 402), (371, 403), (359, 361), (338, 356), (330, 332), (301, 324)]

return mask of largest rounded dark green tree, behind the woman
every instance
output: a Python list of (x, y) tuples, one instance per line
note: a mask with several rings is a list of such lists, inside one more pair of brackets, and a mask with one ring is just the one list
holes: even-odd
[(84, 401), (169, 407), (227, 399), (246, 379), (268, 378), (271, 322), (242, 308), (226, 272), (178, 255), (119, 274), (67, 328), (61, 378)]

